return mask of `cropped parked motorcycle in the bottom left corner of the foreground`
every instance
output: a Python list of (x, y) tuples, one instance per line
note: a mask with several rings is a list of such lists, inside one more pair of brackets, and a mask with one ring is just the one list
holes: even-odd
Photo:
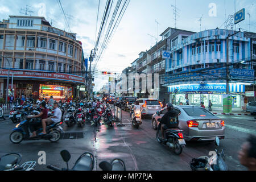
[(35, 161), (29, 161), (19, 166), (22, 155), (19, 153), (9, 153), (0, 158), (0, 171), (34, 171)]

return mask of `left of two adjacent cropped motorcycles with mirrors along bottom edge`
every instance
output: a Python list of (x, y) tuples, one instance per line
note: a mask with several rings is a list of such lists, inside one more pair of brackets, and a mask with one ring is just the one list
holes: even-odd
[(94, 156), (89, 152), (80, 155), (71, 169), (68, 167), (68, 161), (71, 159), (71, 154), (67, 150), (63, 150), (60, 152), (60, 155), (64, 162), (67, 163), (67, 168), (60, 169), (52, 165), (48, 165), (47, 168), (52, 169), (53, 171), (92, 171), (94, 168)]

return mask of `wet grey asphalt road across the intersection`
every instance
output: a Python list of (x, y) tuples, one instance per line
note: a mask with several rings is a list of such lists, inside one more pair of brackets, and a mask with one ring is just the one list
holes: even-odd
[[(46, 152), (46, 164), (35, 166), (36, 170), (48, 170), (46, 166), (66, 167), (61, 159), (60, 151), (68, 150), (71, 153), (69, 167), (73, 167), (76, 159), (84, 152), (91, 152), (95, 156), (94, 170), (101, 170), (98, 164), (102, 160), (111, 161), (120, 158), (125, 161), (127, 170), (191, 170), (189, 162), (192, 158), (208, 156), (209, 151), (216, 148), (226, 149), (226, 163), (229, 170), (246, 170), (238, 161), (237, 152), (249, 134), (255, 134), (256, 122), (251, 115), (218, 115), (225, 121), (225, 139), (220, 146), (214, 142), (187, 142), (181, 155), (177, 156), (168, 147), (156, 141), (156, 131), (151, 127), (151, 119), (143, 119), (139, 129), (131, 127), (130, 115), (123, 111), (122, 118), (125, 126), (92, 127), (88, 123), (83, 129), (75, 125), (65, 126), (65, 138), (57, 143), (48, 140), (23, 141), (20, 144), (10, 142), (9, 135), (15, 124), (10, 120), (0, 121), (0, 156), (8, 152), (22, 154), (20, 164), (35, 160), (38, 162), (39, 151)], [(72, 133), (72, 135), (71, 135)], [(77, 134), (78, 133), (78, 134)], [(81, 135), (83, 134), (83, 136)], [(77, 136), (82, 137), (77, 137)]]

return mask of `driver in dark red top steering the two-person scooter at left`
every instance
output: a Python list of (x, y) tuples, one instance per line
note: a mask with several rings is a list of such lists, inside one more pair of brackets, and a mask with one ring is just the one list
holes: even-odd
[[(28, 116), (27, 118), (41, 118), (41, 119), (47, 119), (48, 118), (48, 109), (46, 109), (46, 102), (41, 102), (41, 106), (43, 107), (43, 109), (41, 110), (41, 112), (38, 115), (34, 115), (34, 116)], [(30, 136), (30, 138), (36, 137), (36, 129), (38, 129), (38, 127), (42, 126), (41, 122), (31, 122), (30, 125), (28, 126), (32, 135)]]

